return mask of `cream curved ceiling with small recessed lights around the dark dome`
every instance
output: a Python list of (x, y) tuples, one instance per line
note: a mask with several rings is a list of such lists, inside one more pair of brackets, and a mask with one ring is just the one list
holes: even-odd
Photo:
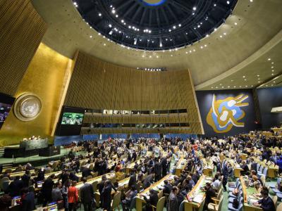
[(165, 52), (136, 51), (108, 41), (82, 20), (71, 0), (33, 0), (32, 4), (49, 24), (43, 42), (69, 58), (80, 50), (132, 68), (188, 68), (197, 90), (256, 87), (262, 82), (255, 75), (263, 75), (262, 81), (271, 77), (265, 59), (269, 56), (275, 60), (274, 74), (282, 70), (281, 0), (238, 0), (226, 23), (209, 37)]

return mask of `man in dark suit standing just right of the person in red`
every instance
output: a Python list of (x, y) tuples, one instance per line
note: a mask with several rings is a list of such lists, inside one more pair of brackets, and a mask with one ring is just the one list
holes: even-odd
[(92, 210), (92, 198), (94, 198), (94, 191), (91, 184), (87, 184), (87, 179), (83, 177), (81, 179), (83, 181), (83, 186), (80, 188), (80, 200), (83, 204), (85, 211)]

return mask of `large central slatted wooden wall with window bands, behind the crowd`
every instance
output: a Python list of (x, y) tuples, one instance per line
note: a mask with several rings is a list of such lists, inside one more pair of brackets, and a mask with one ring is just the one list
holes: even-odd
[[(164, 72), (136, 70), (107, 63), (79, 51), (75, 55), (73, 74), (64, 105), (109, 110), (187, 108), (188, 113), (184, 117), (177, 115), (160, 115), (159, 117), (112, 115), (86, 117), (84, 123), (188, 122), (194, 123), (193, 127), (189, 129), (190, 133), (202, 134), (195, 90), (188, 70)], [(111, 129), (111, 133), (115, 130)], [(137, 131), (142, 132), (140, 129)]]

